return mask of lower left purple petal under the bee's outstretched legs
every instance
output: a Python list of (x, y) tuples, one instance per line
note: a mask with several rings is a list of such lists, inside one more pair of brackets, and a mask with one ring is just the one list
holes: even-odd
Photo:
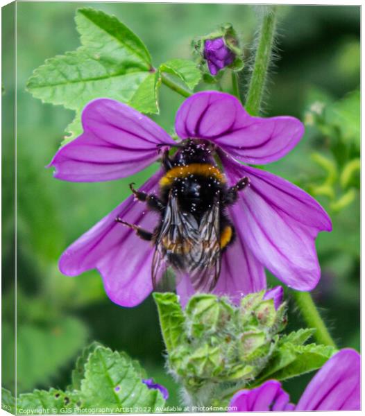
[[(162, 175), (162, 170), (155, 173), (141, 191), (157, 190)], [(130, 196), (71, 244), (62, 254), (59, 266), (68, 276), (98, 269), (110, 299), (121, 306), (135, 306), (152, 291), (153, 247), (139, 239), (133, 229), (116, 223), (117, 216), (150, 231), (158, 224), (158, 216)]]

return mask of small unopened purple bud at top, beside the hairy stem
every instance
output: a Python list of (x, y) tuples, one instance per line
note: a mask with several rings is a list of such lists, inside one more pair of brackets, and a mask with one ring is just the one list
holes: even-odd
[(235, 54), (226, 46), (223, 37), (205, 40), (203, 55), (210, 73), (214, 76), (235, 60)]

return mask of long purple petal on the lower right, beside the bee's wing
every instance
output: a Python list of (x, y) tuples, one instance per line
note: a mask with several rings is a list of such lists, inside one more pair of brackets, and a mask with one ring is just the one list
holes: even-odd
[(320, 231), (332, 229), (328, 214), (294, 184), (220, 155), (231, 184), (245, 176), (250, 180), (231, 208), (248, 247), (287, 286), (312, 290), (321, 275), (314, 240)]

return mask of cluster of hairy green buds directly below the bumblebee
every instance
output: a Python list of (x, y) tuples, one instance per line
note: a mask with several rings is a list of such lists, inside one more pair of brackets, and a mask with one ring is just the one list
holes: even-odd
[(285, 304), (275, 309), (264, 294), (252, 293), (239, 306), (197, 294), (185, 311), (176, 295), (155, 294), (169, 370), (189, 395), (248, 383), (264, 369), (286, 323)]

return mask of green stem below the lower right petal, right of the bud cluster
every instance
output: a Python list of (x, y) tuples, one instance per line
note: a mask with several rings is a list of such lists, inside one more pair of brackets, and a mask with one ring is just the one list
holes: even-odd
[(300, 310), (305, 322), (307, 322), (308, 327), (316, 329), (314, 338), (316, 338), (317, 342), (336, 347), (334, 340), (330, 336), (330, 332), (325, 326), (325, 323), (316, 308), (316, 304), (313, 302), (312, 295), (309, 292), (297, 291), (291, 291), (291, 294), (294, 296), (298, 309)]

